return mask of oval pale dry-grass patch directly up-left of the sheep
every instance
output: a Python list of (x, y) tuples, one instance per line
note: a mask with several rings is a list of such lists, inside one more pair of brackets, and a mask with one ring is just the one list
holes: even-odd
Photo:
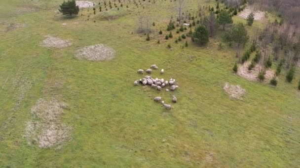
[(90, 61), (111, 60), (115, 55), (115, 51), (104, 44), (84, 47), (77, 50), (76, 57), (78, 59), (87, 59)]

